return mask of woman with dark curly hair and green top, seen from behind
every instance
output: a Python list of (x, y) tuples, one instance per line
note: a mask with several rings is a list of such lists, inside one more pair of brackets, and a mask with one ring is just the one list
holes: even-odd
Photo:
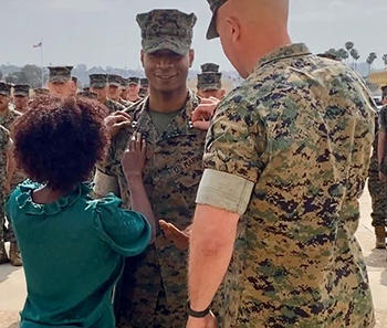
[[(28, 286), (22, 328), (115, 327), (111, 299), (124, 256), (142, 253), (154, 235), (146, 209), (150, 224), (113, 194), (93, 200), (82, 183), (105, 156), (104, 116), (94, 100), (40, 97), (14, 124), (14, 159), (31, 179), (7, 204)], [(124, 155), (127, 177), (145, 160), (140, 142), (132, 140)]]

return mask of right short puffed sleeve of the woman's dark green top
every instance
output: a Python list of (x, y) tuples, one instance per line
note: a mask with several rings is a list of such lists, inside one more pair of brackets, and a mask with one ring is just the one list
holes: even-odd
[(91, 201), (87, 210), (94, 212), (94, 226), (104, 242), (124, 256), (135, 256), (148, 246), (151, 228), (144, 215), (121, 205), (122, 200), (111, 194)]

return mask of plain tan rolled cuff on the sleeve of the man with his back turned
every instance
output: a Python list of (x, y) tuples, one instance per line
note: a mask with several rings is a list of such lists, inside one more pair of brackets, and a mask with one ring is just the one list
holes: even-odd
[(248, 209), (254, 183), (241, 177), (206, 169), (196, 202), (243, 215)]

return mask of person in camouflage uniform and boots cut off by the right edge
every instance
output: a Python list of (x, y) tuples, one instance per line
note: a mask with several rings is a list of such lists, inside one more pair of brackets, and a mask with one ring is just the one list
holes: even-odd
[[(383, 100), (387, 98), (386, 94), (383, 95)], [(373, 212), (373, 226), (375, 228), (376, 248), (386, 248), (386, 224), (387, 224), (387, 183), (379, 179), (379, 163), (378, 163), (378, 130), (379, 121), (383, 130), (386, 130), (387, 126), (387, 108), (384, 106), (375, 121), (375, 140), (373, 145), (373, 156), (370, 158), (370, 165), (368, 170), (368, 190), (372, 199)]]

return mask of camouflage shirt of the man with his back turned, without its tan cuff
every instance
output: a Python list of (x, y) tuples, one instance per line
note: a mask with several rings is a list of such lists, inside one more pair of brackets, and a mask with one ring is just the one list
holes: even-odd
[(261, 59), (220, 104), (205, 168), (254, 183), (218, 295), (220, 327), (374, 326), (354, 236), (374, 119), (360, 77), (304, 44)]

